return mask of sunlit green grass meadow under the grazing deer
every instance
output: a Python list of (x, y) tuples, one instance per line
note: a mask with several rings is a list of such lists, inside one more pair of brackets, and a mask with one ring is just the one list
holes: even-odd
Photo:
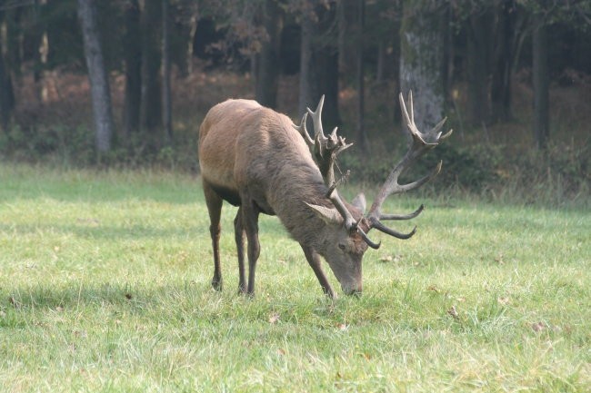
[(197, 178), (0, 164), (2, 390), (589, 391), (591, 212), (387, 210), (420, 202), (410, 241), (372, 232), (360, 299), (326, 299), (263, 217), (247, 299), (227, 205), (225, 290), (209, 285)]

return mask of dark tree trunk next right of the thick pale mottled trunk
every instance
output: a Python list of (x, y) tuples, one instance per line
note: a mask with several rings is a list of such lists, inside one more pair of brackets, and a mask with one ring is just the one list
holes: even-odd
[(489, 35), (488, 10), (470, 15), (467, 34), (467, 118), (473, 125), (490, 123), (488, 98)]

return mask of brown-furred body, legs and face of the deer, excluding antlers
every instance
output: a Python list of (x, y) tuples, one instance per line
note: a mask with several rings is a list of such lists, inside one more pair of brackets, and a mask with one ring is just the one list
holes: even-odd
[[(205, 200), (212, 221), (215, 272), (212, 283), (221, 289), (219, 215), (222, 200), (240, 206), (235, 218), (240, 290), (252, 293), (258, 258), (258, 213), (276, 214), (302, 246), (325, 292), (335, 296), (320, 267), (318, 254), (347, 293), (362, 290), (361, 259), (366, 243), (349, 233), (339, 217), (310, 205), (335, 211), (326, 198), (326, 185), (306, 142), (281, 113), (255, 101), (228, 100), (215, 105), (199, 130), (199, 164)], [(363, 211), (346, 204), (356, 220)], [(248, 239), (249, 279), (245, 286), (244, 238)]]

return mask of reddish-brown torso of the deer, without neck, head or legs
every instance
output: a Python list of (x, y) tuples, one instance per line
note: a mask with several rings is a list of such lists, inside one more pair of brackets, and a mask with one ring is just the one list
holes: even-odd
[[(239, 204), (240, 193), (247, 191), (268, 214), (287, 209), (285, 194), (315, 202), (316, 189), (326, 186), (292, 124), (284, 114), (252, 100), (218, 103), (199, 131), (204, 181), (233, 204)], [(309, 189), (311, 183), (314, 190)], [(314, 196), (308, 197), (309, 193)]]

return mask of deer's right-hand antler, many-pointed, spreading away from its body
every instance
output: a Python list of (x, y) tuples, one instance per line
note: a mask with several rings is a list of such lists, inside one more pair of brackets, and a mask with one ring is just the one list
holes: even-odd
[[(451, 135), (452, 130), (449, 130), (446, 134), (442, 135), (439, 131), (444, 123), (446, 123), (447, 118), (444, 118), (441, 122), (437, 123), (433, 129), (428, 131), (427, 133), (421, 133), (418, 128), (416, 128), (415, 123), (415, 113), (413, 109), (413, 92), (408, 93), (408, 107), (410, 109), (410, 113), (406, 111), (406, 103), (402, 93), (399, 95), (400, 99), (400, 107), (402, 111), (402, 115), (406, 121), (406, 127), (412, 137), (410, 142), (410, 146), (408, 151), (406, 152), (405, 156), (403, 157), (400, 162), (396, 164), (392, 172), (388, 175), (386, 182), (380, 189), (377, 194), (376, 200), (372, 204), (370, 210), (366, 215), (366, 221), (368, 221), (369, 229), (376, 228), (378, 231), (383, 231), (391, 236), (395, 236), (398, 239), (408, 239), (415, 234), (416, 227), (413, 231), (409, 233), (401, 233), (395, 231), (391, 228), (386, 227), (381, 221), (382, 220), (410, 220), (415, 218), (417, 215), (423, 211), (424, 206), (421, 205), (416, 211), (406, 214), (406, 215), (396, 215), (396, 214), (382, 214), (382, 203), (386, 201), (386, 198), (392, 194), (407, 192), (410, 190), (414, 190), (424, 183), (430, 181), (434, 177), (436, 177), (437, 173), (441, 171), (441, 164), (439, 162), (436, 165), (436, 168), (424, 176), (423, 178), (417, 180), (416, 182), (411, 182), (408, 184), (400, 184), (398, 183), (398, 177), (406, 172), (406, 170), (411, 166), (413, 162), (416, 161), (418, 157), (423, 155), (425, 152), (435, 148), (439, 142), (445, 140), (449, 135)], [(369, 243), (368, 243), (369, 244)]]

